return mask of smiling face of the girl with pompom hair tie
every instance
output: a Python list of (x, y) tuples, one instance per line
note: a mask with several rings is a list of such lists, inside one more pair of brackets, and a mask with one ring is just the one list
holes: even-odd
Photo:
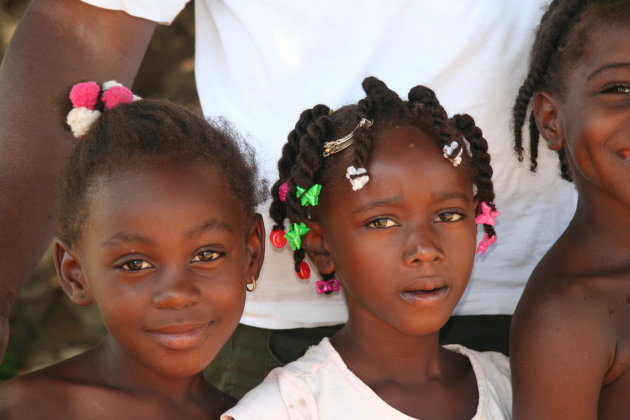
[(248, 228), (224, 181), (207, 164), (152, 164), (90, 188), (78, 249), (57, 259), (83, 287), (79, 303), (98, 305), (124, 361), (187, 377), (236, 328), (264, 232), (259, 218)]

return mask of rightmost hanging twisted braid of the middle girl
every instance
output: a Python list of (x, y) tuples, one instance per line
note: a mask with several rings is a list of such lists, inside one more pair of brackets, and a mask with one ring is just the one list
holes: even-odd
[[(492, 183), (493, 171), (492, 166), (490, 166), (488, 142), (470, 115), (457, 114), (450, 121), (470, 144), (470, 152), (472, 154), (470, 166), (473, 169), (473, 183), (477, 187), (475, 196), (480, 202), (485, 201), (493, 210), (496, 210), (494, 205), (494, 185)], [(496, 235), (492, 225), (484, 224), (483, 227), (488, 236)]]

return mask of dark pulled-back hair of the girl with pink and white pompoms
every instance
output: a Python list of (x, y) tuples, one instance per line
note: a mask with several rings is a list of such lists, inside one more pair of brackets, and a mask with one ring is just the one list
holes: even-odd
[[(64, 110), (68, 111), (72, 105), (67, 96), (66, 101)], [(88, 192), (95, 179), (144, 163), (218, 165), (246, 216), (253, 215), (266, 198), (266, 184), (258, 178), (252, 149), (226, 121), (207, 121), (197, 112), (158, 99), (121, 104), (108, 111), (103, 111), (99, 99), (96, 109), (102, 115), (77, 140), (59, 183), (57, 236), (69, 246), (80, 240), (88, 216)]]

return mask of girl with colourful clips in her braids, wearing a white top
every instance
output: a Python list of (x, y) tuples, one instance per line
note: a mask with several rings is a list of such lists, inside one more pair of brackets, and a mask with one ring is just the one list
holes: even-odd
[(348, 323), (224, 418), (509, 418), (507, 358), (438, 344), (472, 270), (475, 221), (480, 251), (496, 239), (487, 143), (424, 86), (408, 101), (373, 77), (363, 88), (357, 105), (302, 113), (272, 189), (272, 242), (288, 241), (300, 277), (309, 255), (319, 292), (342, 285)]

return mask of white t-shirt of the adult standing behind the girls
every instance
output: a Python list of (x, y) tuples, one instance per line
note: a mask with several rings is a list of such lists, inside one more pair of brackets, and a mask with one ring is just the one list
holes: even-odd
[[(170, 22), (186, 0), (84, 0)], [(374, 75), (406, 97), (424, 84), (450, 115), (466, 112), (490, 145), (498, 241), (478, 256), (459, 315), (512, 314), (534, 265), (573, 215), (576, 194), (541, 147), (538, 173), (512, 151), (511, 108), (547, 0), (196, 0), (196, 77), (203, 111), (246, 134), (271, 182), (301, 111), (364, 97)], [(267, 206), (260, 212), (272, 223)], [(481, 230), (479, 239), (482, 236)], [(268, 242), (268, 241), (267, 241)], [(269, 244), (242, 322), (264, 328), (346, 320), (342, 296), (319, 295)]]

